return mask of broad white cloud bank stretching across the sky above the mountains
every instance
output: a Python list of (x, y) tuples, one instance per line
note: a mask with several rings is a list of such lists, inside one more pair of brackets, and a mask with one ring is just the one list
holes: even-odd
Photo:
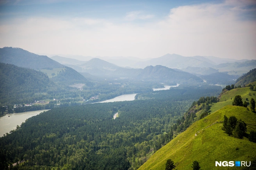
[[(249, 3), (249, 2), (248, 2)], [(0, 23), (0, 47), (20, 47), (34, 53), (84, 56), (160, 57), (216, 56), (256, 59), (256, 22), (242, 20), (247, 3), (181, 6), (161, 21), (133, 24), (147, 19), (141, 11), (126, 21), (33, 17)], [(236, 10), (243, 9), (243, 10)]]

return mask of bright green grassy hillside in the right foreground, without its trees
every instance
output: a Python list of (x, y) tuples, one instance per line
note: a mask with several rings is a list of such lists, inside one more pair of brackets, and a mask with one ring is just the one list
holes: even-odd
[[(236, 88), (222, 95), (222, 102), (213, 105), (215, 108), (212, 107), (217, 110), (215, 113), (212, 111), (212, 114), (195, 122), (185, 132), (156, 151), (139, 170), (164, 170), (167, 159), (172, 159), (179, 170), (192, 169), (194, 160), (199, 161), (202, 169), (238, 169), (241, 167), (215, 167), (215, 161), (249, 161), (256, 158), (256, 143), (248, 141), (247, 138), (236, 139), (228, 136), (221, 130), (222, 123), (208, 127), (216, 121), (223, 121), (224, 115), (236, 116), (238, 120), (242, 119), (247, 124), (256, 125), (255, 113), (247, 111), (244, 107), (227, 105), (233, 101), (230, 99), (231, 96), (234, 98), (237, 94), (242, 95), (244, 100), (245, 97), (250, 100), (254, 96), (247, 96), (249, 92), (249, 88)], [(247, 134), (251, 130), (256, 130), (256, 126), (247, 125)]]

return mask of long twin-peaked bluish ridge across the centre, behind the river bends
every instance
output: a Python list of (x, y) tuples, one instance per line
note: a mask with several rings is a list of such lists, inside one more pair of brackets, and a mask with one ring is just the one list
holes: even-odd
[[(81, 69), (77, 67), (82, 68)], [(90, 61), (75, 66), (73, 68), (80, 70), (81, 72), (89, 73), (90, 75), (100, 77), (111, 77), (111, 78), (132, 78), (135, 80), (144, 81), (157, 81), (166, 83), (182, 83), (182, 82), (203, 82), (201, 78), (186, 73), (183, 71), (176, 71), (165, 66), (147, 66), (144, 69), (133, 69), (133, 68), (122, 68), (111, 64), (101, 59), (91, 59)]]

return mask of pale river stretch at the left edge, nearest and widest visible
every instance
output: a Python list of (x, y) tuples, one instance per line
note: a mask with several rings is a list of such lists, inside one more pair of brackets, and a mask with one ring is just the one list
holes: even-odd
[(2, 137), (5, 133), (9, 133), (11, 130), (16, 129), (17, 125), (20, 126), (21, 123), (25, 122), (25, 120), (27, 120), (28, 118), (32, 116), (36, 116), (37, 114), (43, 111), (48, 111), (48, 110), (12, 113), (12, 114), (6, 114), (5, 116), (0, 117), (0, 137)]

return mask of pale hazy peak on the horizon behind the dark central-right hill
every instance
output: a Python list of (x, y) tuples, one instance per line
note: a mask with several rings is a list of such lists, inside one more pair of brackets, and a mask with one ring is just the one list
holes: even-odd
[(211, 64), (206, 61), (201, 61), (199, 59), (193, 58), (193, 57), (184, 57), (180, 56), (178, 54), (166, 54), (162, 57), (150, 59), (148, 61), (140, 61), (137, 62), (134, 66), (137, 68), (144, 68), (146, 66), (156, 66), (156, 65), (162, 65), (169, 68), (186, 68), (188, 66), (190, 67), (213, 67), (214, 64)]

